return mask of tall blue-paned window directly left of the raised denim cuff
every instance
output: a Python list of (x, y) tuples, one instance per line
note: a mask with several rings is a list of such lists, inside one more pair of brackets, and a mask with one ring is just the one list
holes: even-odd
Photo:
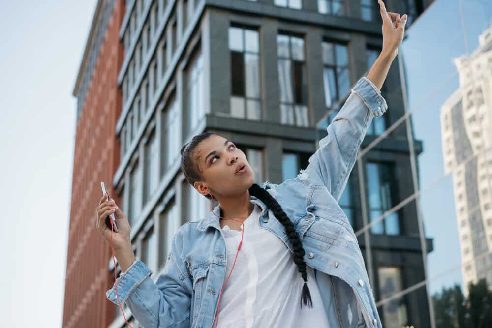
[[(330, 110), (334, 109), (334, 105), (347, 96), (350, 91), (348, 47), (344, 44), (324, 41), (322, 43), (322, 50), (325, 105)], [(339, 108), (335, 108), (334, 110), (338, 111)], [(332, 119), (333, 117), (330, 121)]]

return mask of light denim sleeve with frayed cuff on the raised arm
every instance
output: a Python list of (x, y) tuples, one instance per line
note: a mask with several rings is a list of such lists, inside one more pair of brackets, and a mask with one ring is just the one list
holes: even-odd
[(360, 78), (326, 128), (328, 135), (319, 141), (319, 148), (309, 158), (304, 170), (307, 179), (325, 185), (338, 202), (369, 124), (387, 108), (386, 100), (374, 83), (367, 77)]

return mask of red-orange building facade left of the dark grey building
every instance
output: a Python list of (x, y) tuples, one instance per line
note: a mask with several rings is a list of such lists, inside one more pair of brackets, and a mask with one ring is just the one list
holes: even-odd
[(95, 230), (100, 181), (119, 199), (112, 180), (120, 162), (116, 122), (122, 111), (118, 72), (123, 63), (119, 30), (124, 0), (116, 0), (76, 130), (70, 228), (65, 276), (63, 327), (107, 327), (115, 305), (106, 299), (114, 276), (108, 272), (111, 248)]

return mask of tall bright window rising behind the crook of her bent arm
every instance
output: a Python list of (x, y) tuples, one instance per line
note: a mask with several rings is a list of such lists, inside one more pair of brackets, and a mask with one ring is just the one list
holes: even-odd
[(166, 264), (167, 256), (171, 252), (173, 237), (181, 227), (181, 220), (178, 216), (178, 207), (173, 198), (164, 212), (159, 217), (159, 269)]

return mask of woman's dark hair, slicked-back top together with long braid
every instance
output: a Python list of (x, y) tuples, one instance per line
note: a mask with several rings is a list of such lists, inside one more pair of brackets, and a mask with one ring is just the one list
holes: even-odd
[[(181, 171), (184, 173), (186, 180), (194, 186), (196, 181), (202, 181), (203, 177), (200, 175), (200, 170), (196, 165), (192, 153), (193, 150), (198, 146), (198, 144), (208, 138), (209, 136), (216, 134), (213, 132), (203, 132), (201, 134), (195, 135), (191, 141), (185, 144), (181, 148)], [(301, 277), (304, 280), (303, 291), (301, 295), (301, 308), (304, 305), (308, 305), (312, 308), (312, 300), (311, 293), (309, 292), (309, 287), (307, 287), (307, 270), (306, 270), (306, 262), (304, 262), (304, 248), (299, 238), (299, 235), (294, 229), (294, 224), (289, 219), (287, 214), (283, 211), (280, 204), (278, 204), (277, 200), (270, 195), (268, 191), (260, 187), (258, 184), (253, 183), (251, 187), (249, 187), (249, 194), (260, 199), (265, 205), (272, 210), (277, 220), (284, 226), (285, 232), (289, 237), (290, 243), (294, 247), (294, 262), (301, 273)], [(203, 195), (207, 199), (211, 199), (210, 195)]]

